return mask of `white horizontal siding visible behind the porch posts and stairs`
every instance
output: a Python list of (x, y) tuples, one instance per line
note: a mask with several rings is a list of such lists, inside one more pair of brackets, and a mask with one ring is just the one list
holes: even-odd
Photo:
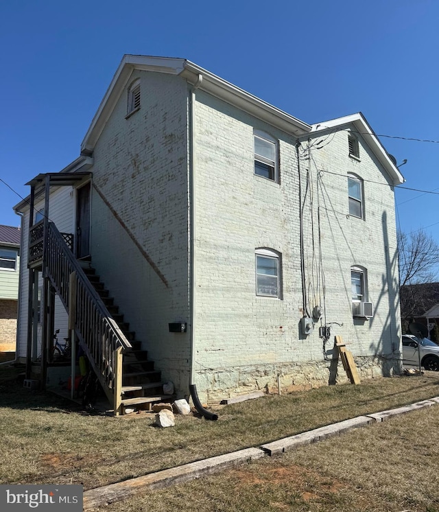
[[(56, 227), (62, 233), (74, 233), (74, 200), (73, 189), (71, 187), (59, 187), (51, 191), (49, 202), (49, 219), (54, 222)], [(43, 200), (38, 200), (35, 203), (35, 209), (42, 209), (44, 206)], [(21, 247), (21, 290), (20, 290), (20, 308), (19, 308), (19, 333), (18, 341), (19, 348), (17, 349), (20, 358), (26, 357), (27, 346), (27, 310), (28, 310), (28, 290), (29, 290), (29, 272), (27, 269), (27, 248), (29, 244), (29, 209), (27, 208), (23, 215), (23, 242)], [(38, 288), (43, 286), (43, 279), (39, 277)], [(64, 310), (62, 303), (58, 296), (55, 301), (55, 329), (60, 329), (58, 339), (67, 336), (67, 312)], [(64, 334), (65, 333), (65, 334)], [(38, 349), (40, 353), (41, 344), (41, 327), (38, 326)]]

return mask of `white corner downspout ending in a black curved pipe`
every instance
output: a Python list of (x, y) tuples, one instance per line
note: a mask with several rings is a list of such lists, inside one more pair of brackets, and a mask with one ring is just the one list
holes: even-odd
[(195, 127), (193, 110), (195, 106), (195, 90), (202, 84), (203, 76), (200, 73), (198, 80), (191, 87), (189, 93), (189, 309), (191, 316), (191, 366), (189, 369), (189, 392), (191, 393), (193, 405), (200, 415), (206, 419), (218, 419), (217, 415), (213, 414), (204, 408), (198, 398), (197, 388), (195, 386), (195, 218), (196, 218), (196, 205), (195, 205)]

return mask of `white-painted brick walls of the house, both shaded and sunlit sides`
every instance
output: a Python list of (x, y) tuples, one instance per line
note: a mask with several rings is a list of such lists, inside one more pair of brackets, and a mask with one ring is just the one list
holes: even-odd
[[(186, 392), (191, 356), (188, 89), (183, 80), (171, 75), (137, 71), (132, 80), (136, 78), (141, 80), (141, 109), (126, 119), (124, 91), (95, 148), (93, 266), (163, 377)], [(323, 306), (325, 289), (324, 321), (340, 324), (332, 325), (328, 349), (338, 334), (353, 351), (361, 375), (378, 374), (383, 359), (375, 358), (376, 354), (389, 359), (388, 371), (392, 371), (392, 365), (398, 366), (393, 351), (399, 348), (400, 334), (394, 198), (362, 139), (360, 162), (348, 156), (346, 131), (330, 135), (321, 150), (313, 146), (311, 161), (300, 160), (299, 183), (294, 137), (200, 90), (196, 96), (195, 382), (200, 397), (273, 389), (278, 375), (287, 389), (329, 381), (330, 362), (323, 358), (318, 325), (311, 336), (300, 333), (299, 185), (306, 196), (303, 225), (309, 305)], [(279, 184), (254, 175), (254, 128), (279, 141)], [(324, 137), (313, 134), (310, 143)], [(305, 141), (302, 148), (306, 147)], [(348, 172), (365, 180), (365, 220), (348, 218)], [(51, 208), (51, 218), (62, 224), (65, 217), (73, 229), (73, 202), (69, 205), (69, 209), (64, 205), (64, 213)], [(67, 227), (60, 229), (69, 231)], [(255, 294), (257, 247), (282, 255), (281, 300)], [(370, 321), (352, 318), (353, 265), (368, 269), (368, 299), (375, 305)], [(23, 279), (22, 291), (26, 286)], [(22, 323), (24, 318), (25, 308)], [(169, 333), (168, 323), (174, 321), (187, 322), (188, 332)], [(345, 379), (339, 368), (337, 380)]]

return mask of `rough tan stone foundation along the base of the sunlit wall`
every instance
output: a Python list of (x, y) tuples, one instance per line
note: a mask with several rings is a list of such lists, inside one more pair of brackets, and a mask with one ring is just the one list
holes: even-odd
[[(401, 354), (356, 357), (360, 379), (391, 377), (402, 371)], [(198, 395), (203, 403), (245, 395), (252, 391), (281, 393), (348, 382), (341, 360), (236, 366), (230, 369), (203, 370), (196, 373)]]

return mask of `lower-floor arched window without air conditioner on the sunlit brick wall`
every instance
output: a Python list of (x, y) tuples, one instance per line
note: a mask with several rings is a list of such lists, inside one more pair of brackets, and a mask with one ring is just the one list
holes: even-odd
[(281, 298), (281, 255), (272, 249), (255, 251), (256, 294)]

